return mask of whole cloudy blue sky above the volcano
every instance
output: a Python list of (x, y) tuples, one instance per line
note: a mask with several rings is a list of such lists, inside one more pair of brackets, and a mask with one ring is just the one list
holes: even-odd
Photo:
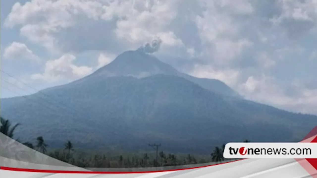
[(159, 39), (153, 54), (181, 72), (317, 114), (317, 0), (2, 0), (0, 23), (0, 97), (74, 81)]

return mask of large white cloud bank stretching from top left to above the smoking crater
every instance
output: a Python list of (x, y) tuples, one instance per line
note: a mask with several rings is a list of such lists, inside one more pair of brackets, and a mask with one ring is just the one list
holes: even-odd
[[(115, 20), (115, 28), (94, 35), (114, 33), (116, 40), (121, 40), (130, 46), (150, 42), (156, 36), (164, 40), (163, 45), (181, 44), (181, 40), (167, 29), (177, 14), (178, 1), (150, 0), (147, 1), (147, 5), (143, 2), (143, 0), (121, 2), (32, 0), (24, 5), (15, 3), (5, 20), (5, 25), (20, 26), (21, 35), (54, 51), (63, 50), (64, 44), (60, 44), (62, 40), (58, 37), (62, 32), (87, 20), (95, 22), (95, 25), (107, 25)], [(86, 31), (83, 35), (88, 34), (89, 32)]]

